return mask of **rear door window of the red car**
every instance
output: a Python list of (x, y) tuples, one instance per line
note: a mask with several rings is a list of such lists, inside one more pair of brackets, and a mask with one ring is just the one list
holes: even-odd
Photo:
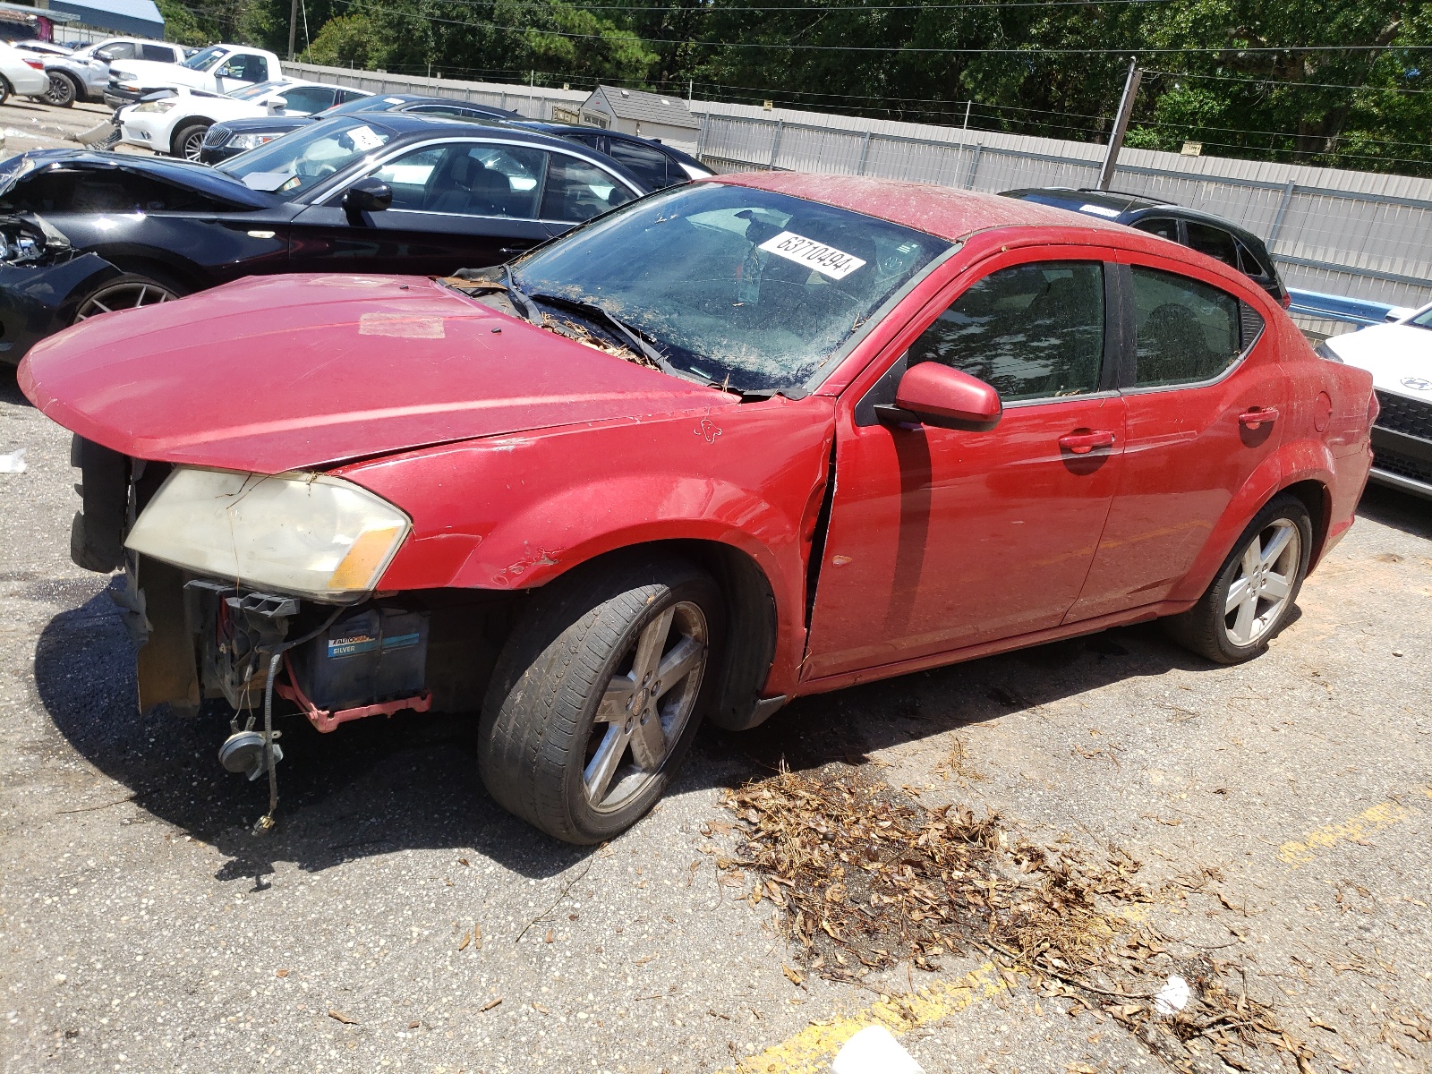
[(1137, 387), (1207, 381), (1233, 364), (1242, 351), (1236, 298), (1141, 265), (1133, 276)]

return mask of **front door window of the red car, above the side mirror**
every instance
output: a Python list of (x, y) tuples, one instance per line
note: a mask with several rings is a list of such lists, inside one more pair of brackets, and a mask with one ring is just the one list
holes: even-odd
[(1103, 355), (1103, 263), (1047, 261), (971, 286), (909, 348), (909, 364), (944, 362), (1012, 401), (1097, 391)]

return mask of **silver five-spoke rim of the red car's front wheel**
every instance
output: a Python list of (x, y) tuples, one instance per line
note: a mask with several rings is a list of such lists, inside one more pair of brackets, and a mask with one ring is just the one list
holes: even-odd
[(587, 803), (620, 809), (657, 778), (696, 710), (706, 672), (706, 616), (689, 600), (637, 634), (597, 705), (581, 770)]

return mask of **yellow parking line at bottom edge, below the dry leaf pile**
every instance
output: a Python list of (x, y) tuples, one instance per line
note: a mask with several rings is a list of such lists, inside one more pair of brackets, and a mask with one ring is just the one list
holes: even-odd
[(866, 1025), (884, 1025), (898, 1037), (1004, 995), (1012, 987), (994, 962), (985, 962), (955, 981), (941, 981), (898, 1000), (881, 1000), (855, 1014), (808, 1025), (780, 1044), (742, 1060), (729, 1074), (813, 1074), (825, 1068), (841, 1047)]

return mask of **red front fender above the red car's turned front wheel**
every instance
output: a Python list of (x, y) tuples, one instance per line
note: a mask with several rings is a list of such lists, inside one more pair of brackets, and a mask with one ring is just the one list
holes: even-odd
[(617, 548), (710, 541), (749, 556), (776, 600), (778, 664), (805, 636), (808, 517), (833, 401), (719, 411), (451, 444), (338, 470), (414, 521), (382, 590), (533, 589)]

